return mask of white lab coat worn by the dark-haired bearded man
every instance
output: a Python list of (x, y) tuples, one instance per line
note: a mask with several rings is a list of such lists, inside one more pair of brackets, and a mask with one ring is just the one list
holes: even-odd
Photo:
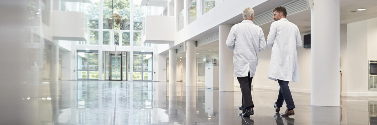
[(286, 18), (272, 22), (267, 45), (272, 47), (268, 79), (299, 82), (297, 49), (302, 41), (297, 25)]

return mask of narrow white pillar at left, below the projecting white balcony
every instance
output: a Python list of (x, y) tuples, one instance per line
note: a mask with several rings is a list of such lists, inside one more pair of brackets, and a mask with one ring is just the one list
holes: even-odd
[(59, 47), (55, 45), (50, 46), (50, 80), (59, 80)]

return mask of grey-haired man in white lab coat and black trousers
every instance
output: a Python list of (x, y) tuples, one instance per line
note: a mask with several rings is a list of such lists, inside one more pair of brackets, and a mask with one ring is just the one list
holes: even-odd
[(233, 51), (233, 76), (237, 77), (242, 92), (242, 110), (239, 116), (254, 115), (251, 98), (251, 80), (258, 64), (258, 52), (264, 51), (266, 42), (262, 28), (253, 23), (254, 10), (250, 7), (242, 12), (244, 21), (233, 25), (227, 39), (227, 46)]

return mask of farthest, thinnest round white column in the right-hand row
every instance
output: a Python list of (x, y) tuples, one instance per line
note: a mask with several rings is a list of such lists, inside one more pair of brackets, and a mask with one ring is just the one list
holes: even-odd
[(169, 49), (169, 83), (177, 82), (177, 49)]

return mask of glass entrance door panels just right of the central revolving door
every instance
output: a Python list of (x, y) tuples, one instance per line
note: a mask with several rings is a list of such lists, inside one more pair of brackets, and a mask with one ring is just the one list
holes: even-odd
[(135, 52), (133, 55), (133, 80), (152, 81), (152, 53)]

